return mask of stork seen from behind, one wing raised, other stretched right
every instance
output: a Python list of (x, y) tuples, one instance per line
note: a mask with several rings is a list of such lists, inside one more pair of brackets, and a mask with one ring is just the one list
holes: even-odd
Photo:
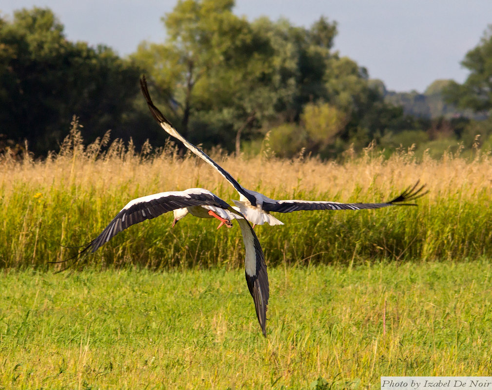
[(408, 203), (425, 194), (422, 192), (425, 185), (419, 187), (419, 181), (414, 186), (410, 186), (405, 189), (399, 196), (392, 200), (382, 203), (338, 203), (330, 201), (312, 201), (312, 200), (275, 200), (271, 199), (256, 191), (247, 190), (236, 179), (234, 179), (229, 172), (220, 167), (214, 160), (212, 160), (203, 150), (199, 149), (192, 143), (188, 142), (184, 137), (173, 127), (171, 122), (160, 112), (157, 107), (154, 106), (149, 90), (147, 88), (147, 81), (145, 76), (140, 79), (140, 86), (142, 93), (144, 94), (149, 110), (154, 116), (154, 119), (160, 124), (166, 133), (172, 137), (179, 139), (184, 145), (204, 160), (207, 164), (215, 168), (238, 192), (239, 200), (233, 200), (239, 211), (245, 216), (245, 218), (255, 225), (261, 225), (263, 223), (269, 223), (270, 225), (283, 225), (282, 222), (277, 220), (270, 212), (275, 211), (277, 213), (291, 213), (293, 211), (302, 210), (361, 210), (361, 209), (378, 209), (387, 206), (416, 206), (415, 203)]

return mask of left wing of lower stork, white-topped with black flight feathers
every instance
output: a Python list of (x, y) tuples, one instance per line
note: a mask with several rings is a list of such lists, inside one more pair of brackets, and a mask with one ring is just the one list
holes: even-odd
[(86, 250), (91, 249), (91, 252), (95, 252), (101, 245), (107, 243), (116, 234), (135, 223), (151, 220), (175, 209), (202, 205), (215, 206), (222, 209), (230, 207), (218, 196), (202, 188), (162, 192), (133, 199), (123, 207), (116, 217), (113, 218), (113, 221), (104, 228), (101, 234), (89, 243)]

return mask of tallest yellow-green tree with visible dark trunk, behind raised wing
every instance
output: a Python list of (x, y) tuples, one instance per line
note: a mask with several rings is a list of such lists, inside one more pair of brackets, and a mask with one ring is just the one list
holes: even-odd
[(214, 69), (236, 67), (252, 49), (249, 24), (232, 13), (233, 6), (233, 0), (180, 0), (162, 18), (166, 42), (144, 42), (134, 55), (180, 120), (185, 137), (191, 116), (217, 92), (204, 79)]

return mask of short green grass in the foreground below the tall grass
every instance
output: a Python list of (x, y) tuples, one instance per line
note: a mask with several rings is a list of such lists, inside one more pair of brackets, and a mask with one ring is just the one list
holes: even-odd
[[(0, 389), (377, 389), (490, 375), (492, 265), (269, 268), (268, 337), (243, 270), (1, 276)], [(328, 389), (328, 387), (326, 387)]]

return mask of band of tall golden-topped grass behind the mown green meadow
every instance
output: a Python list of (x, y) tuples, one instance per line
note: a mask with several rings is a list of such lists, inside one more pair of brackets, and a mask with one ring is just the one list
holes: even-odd
[[(322, 162), (300, 156), (280, 160), (268, 145), (255, 158), (212, 151), (213, 158), (248, 189), (273, 198), (382, 201), (417, 180), (430, 193), (419, 207), (374, 211), (277, 214), (284, 226), (258, 226), (268, 264), (353, 263), (376, 258), (476, 258), (492, 253), (492, 156), (445, 154), (417, 161), (412, 150), (385, 159), (373, 147), (361, 156)], [(225, 200), (237, 198), (229, 184), (196, 156), (181, 157), (169, 142), (136, 151), (109, 133), (87, 147), (76, 120), (58, 153), (42, 161), (0, 159), (0, 266), (47, 267), (92, 240), (131, 199), (162, 191), (203, 187)], [(239, 229), (215, 231), (209, 220), (171, 216), (132, 226), (95, 254), (93, 264), (239, 266), (244, 250)]]

